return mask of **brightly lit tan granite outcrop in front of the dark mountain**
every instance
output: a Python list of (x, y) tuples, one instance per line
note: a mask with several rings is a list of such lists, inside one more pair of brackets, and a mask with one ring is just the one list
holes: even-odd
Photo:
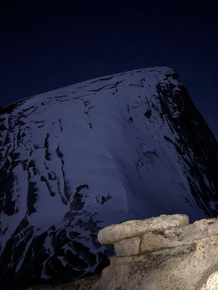
[(111, 225), (98, 236), (114, 243), (117, 257), (92, 290), (218, 289), (217, 218), (189, 224), (186, 215), (162, 215)]

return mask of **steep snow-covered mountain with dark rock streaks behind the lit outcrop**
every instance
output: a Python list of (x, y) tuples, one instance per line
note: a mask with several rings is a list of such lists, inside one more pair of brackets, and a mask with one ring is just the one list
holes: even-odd
[(218, 145), (176, 72), (133, 70), (1, 108), (0, 288), (97, 273), (104, 226), (218, 215)]

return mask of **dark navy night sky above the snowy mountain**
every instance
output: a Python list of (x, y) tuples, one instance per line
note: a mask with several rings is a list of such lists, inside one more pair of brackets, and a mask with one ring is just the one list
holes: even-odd
[(0, 106), (168, 66), (218, 140), (217, 0), (2, 0)]

